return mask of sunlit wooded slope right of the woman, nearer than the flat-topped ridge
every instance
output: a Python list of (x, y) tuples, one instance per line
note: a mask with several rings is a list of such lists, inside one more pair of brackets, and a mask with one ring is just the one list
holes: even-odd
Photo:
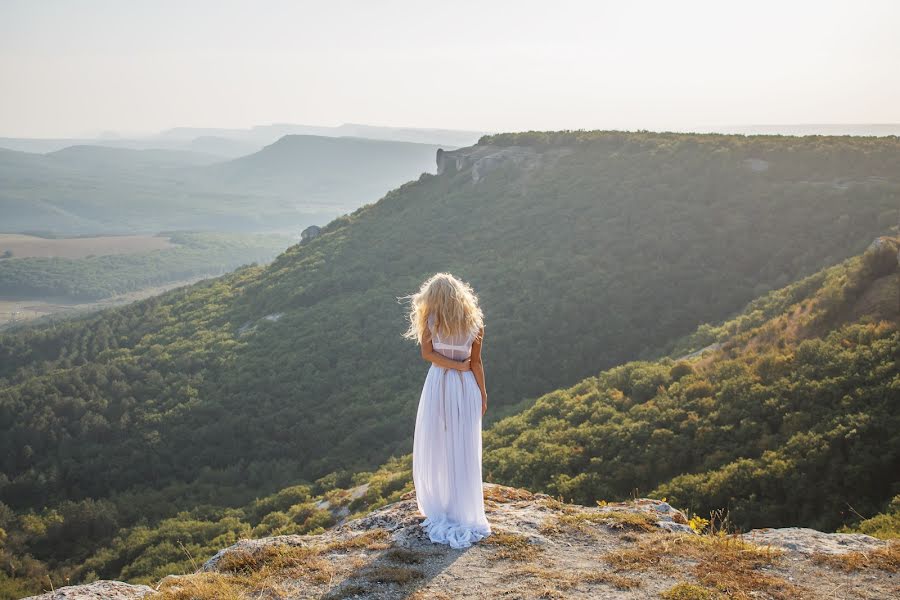
[(586, 504), (637, 489), (742, 527), (879, 512), (900, 493), (898, 251), (881, 238), (701, 328), (721, 345), (699, 357), (541, 397), (485, 433), (486, 479)]

